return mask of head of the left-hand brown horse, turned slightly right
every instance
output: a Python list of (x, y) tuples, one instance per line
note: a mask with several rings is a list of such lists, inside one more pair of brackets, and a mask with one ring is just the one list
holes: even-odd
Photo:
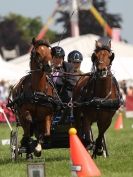
[(31, 70), (51, 72), (51, 47), (47, 40), (32, 39), (33, 49), (31, 51)]

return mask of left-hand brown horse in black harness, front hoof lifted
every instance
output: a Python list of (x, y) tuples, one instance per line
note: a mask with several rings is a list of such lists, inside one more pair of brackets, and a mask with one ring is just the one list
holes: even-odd
[(37, 138), (34, 150), (41, 155), (42, 144), (50, 136), (50, 127), (54, 113), (54, 88), (49, 78), (51, 72), (51, 49), (47, 41), (32, 41), (30, 74), (24, 76), (12, 90), (12, 105), (24, 130), (21, 146), (27, 147), (27, 158), (32, 158), (31, 136)]

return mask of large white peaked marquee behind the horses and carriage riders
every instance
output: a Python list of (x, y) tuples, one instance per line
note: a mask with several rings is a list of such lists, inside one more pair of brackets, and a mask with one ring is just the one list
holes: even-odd
[[(99, 38), (96, 35), (83, 35), (79, 37), (69, 37), (60, 43), (54, 43), (52, 46), (59, 45), (63, 47), (66, 52), (66, 56), (72, 50), (79, 50), (84, 57), (81, 69), (83, 72), (89, 72), (91, 70), (90, 56), (95, 48), (95, 41)], [(116, 76), (117, 80), (133, 79), (133, 45), (126, 44), (124, 42), (112, 41), (112, 50), (115, 53), (115, 59), (112, 63), (112, 72)], [(21, 67), (23, 71), (29, 70), (30, 54), (26, 54), (19, 58), (16, 58), (8, 63)], [(65, 58), (66, 60), (66, 58)]]

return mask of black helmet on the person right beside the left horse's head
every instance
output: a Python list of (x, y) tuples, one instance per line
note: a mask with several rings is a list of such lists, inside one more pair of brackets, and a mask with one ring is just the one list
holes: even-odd
[(55, 56), (55, 57), (63, 57), (64, 58), (65, 51), (62, 47), (55, 46), (55, 47), (52, 47), (52, 49), (51, 49), (51, 55), (52, 55), (52, 57)]

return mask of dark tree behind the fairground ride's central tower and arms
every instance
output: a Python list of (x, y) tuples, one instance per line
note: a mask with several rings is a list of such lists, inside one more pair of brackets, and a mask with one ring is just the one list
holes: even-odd
[[(108, 13), (105, 0), (93, 0), (93, 5), (111, 27), (121, 28), (120, 15)], [(66, 29), (63, 38), (69, 37), (71, 36), (69, 13), (63, 11), (59, 11), (59, 13), (61, 17), (57, 19), (56, 23), (63, 23), (63, 28)], [(79, 10), (79, 30), (81, 35), (91, 33), (102, 36), (104, 34), (104, 29), (89, 10)]]

